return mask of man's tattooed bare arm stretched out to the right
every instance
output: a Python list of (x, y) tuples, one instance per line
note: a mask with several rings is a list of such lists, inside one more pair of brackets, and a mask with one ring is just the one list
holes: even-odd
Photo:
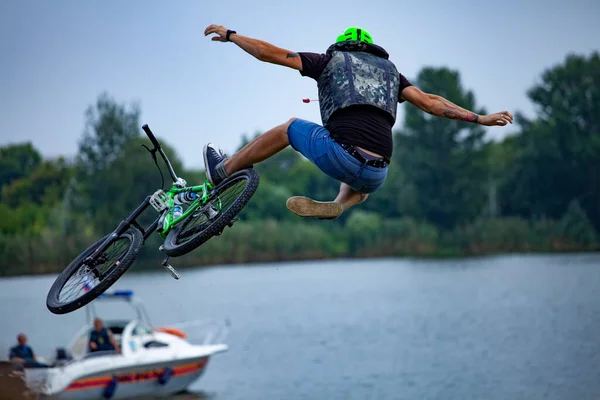
[(451, 101), (435, 94), (424, 93), (415, 86), (409, 86), (402, 91), (402, 99), (421, 110), (448, 119), (458, 119), (487, 126), (504, 126), (513, 122), (513, 116), (508, 111), (488, 115), (477, 115), (465, 110)]

